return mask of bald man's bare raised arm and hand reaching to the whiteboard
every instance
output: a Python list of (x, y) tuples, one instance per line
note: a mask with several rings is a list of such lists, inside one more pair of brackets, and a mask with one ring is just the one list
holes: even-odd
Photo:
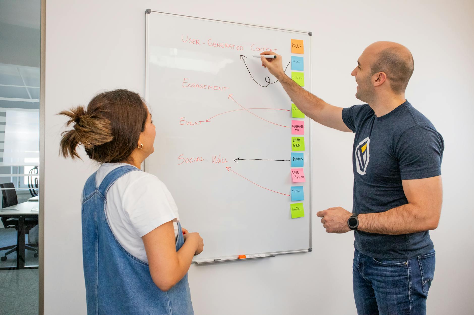
[(261, 53), (261, 55), (268, 54), (276, 55), (276, 58), (260, 58), (262, 60), (262, 66), (267, 68), (268, 71), (270, 71), (270, 73), (280, 81), (286, 93), (290, 96), (293, 103), (301, 110), (301, 112), (306, 114), (315, 122), (319, 122), (327, 127), (340, 131), (352, 132), (342, 120), (342, 107), (330, 105), (318, 96), (315, 96), (300, 87), (285, 74), (282, 64), (282, 56), (270, 51)]

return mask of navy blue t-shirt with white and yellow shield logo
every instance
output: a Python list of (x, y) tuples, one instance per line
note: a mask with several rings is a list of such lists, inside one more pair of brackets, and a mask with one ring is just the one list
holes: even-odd
[[(342, 110), (356, 132), (353, 146), (354, 213), (377, 213), (407, 204), (401, 180), (441, 175), (444, 141), (408, 101), (376, 117), (368, 104)], [(367, 256), (408, 260), (433, 249), (429, 232), (384, 235), (355, 231), (356, 249)]]

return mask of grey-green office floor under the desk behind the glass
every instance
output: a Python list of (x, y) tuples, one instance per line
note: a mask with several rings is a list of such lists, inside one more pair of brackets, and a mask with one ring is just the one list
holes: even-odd
[[(28, 238), (28, 236), (27, 236)], [(0, 228), (0, 247), (16, 244), (17, 231), (13, 228)], [(0, 255), (6, 251), (1, 251)], [(26, 251), (25, 263), (38, 264), (33, 252)], [(11, 253), (1, 267), (15, 265), (16, 253)], [(38, 314), (38, 269), (0, 271), (0, 314), (33, 315)]]

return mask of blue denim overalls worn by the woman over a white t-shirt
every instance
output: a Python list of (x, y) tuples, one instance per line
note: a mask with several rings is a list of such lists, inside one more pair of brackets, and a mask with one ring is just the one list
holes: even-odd
[[(153, 282), (148, 263), (129, 254), (113, 235), (105, 214), (109, 187), (133, 166), (112, 170), (96, 185), (96, 173), (82, 193), (82, 260), (87, 314), (194, 314), (188, 275), (164, 292)], [(181, 225), (178, 222), (178, 231)], [(184, 243), (178, 233), (176, 251)]]

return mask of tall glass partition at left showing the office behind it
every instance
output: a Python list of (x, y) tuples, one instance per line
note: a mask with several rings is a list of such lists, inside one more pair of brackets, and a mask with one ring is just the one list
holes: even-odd
[(0, 314), (38, 314), (40, 0), (0, 0)]

